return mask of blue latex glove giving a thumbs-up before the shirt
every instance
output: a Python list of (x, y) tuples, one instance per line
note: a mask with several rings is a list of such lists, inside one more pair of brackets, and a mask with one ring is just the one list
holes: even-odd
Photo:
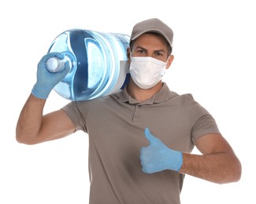
[(165, 169), (179, 171), (183, 163), (181, 151), (175, 151), (154, 137), (148, 128), (145, 129), (145, 137), (150, 145), (140, 150), (140, 160), (144, 173), (156, 173)]

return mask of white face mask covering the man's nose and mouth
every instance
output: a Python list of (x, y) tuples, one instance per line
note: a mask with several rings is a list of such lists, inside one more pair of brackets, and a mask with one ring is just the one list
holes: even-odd
[(166, 64), (150, 56), (132, 56), (130, 74), (133, 82), (141, 89), (150, 89), (165, 75)]

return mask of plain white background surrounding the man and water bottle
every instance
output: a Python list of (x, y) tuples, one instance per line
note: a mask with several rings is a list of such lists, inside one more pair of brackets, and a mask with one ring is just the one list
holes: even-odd
[[(79, 132), (34, 146), (18, 144), (17, 118), (35, 83), (37, 63), (61, 32), (83, 28), (130, 35), (134, 24), (151, 17), (174, 31), (175, 60), (165, 82), (177, 93), (192, 93), (210, 111), (243, 165), (241, 180), (232, 184), (187, 176), (182, 203), (255, 203), (253, 0), (13, 0), (0, 4), (0, 203), (88, 203), (87, 135)], [(45, 113), (68, 102), (52, 92)]]

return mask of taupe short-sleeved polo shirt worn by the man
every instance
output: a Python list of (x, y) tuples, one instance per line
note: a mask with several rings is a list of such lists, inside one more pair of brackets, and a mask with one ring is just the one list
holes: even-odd
[(140, 148), (149, 145), (144, 129), (177, 151), (191, 152), (195, 140), (219, 133), (213, 117), (191, 94), (162, 89), (138, 103), (124, 89), (63, 107), (76, 130), (89, 136), (90, 204), (178, 204), (184, 175), (172, 170), (143, 173)]

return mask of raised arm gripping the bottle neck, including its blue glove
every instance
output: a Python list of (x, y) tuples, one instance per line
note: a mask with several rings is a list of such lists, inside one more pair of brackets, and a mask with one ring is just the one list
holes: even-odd
[(75, 131), (72, 122), (64, 111), (54, 111), (43, 116), (43, 107), (54, 86), (69, 73), (69, 64), (62, 71), (50, 72), (46, 69), (46, 61), (51, 57), (63, 59), (61, 53), (48, 53), (37, 66), (37, 81), (32, 94), (24, 104), (17, 122), (16, 138), (24, 144), (37, 144), (47, 140), (55, 140)]

